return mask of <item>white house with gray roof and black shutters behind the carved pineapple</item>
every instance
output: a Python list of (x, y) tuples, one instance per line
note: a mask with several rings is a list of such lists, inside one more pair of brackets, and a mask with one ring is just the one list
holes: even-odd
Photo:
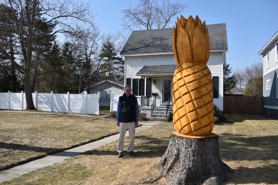
[[(228, 51), (226, 23), (207, 25), (210, 57), (207, 63), (213, 77), (213, 103), (223, 110), (223, 64)], [(138, 97), (141, 111), (150, 116), (172, 102), (172, 78), (177, 66), (172, 48), (173, 28), (133, 31), (120, 55), (125, 57), (125, 86)]]

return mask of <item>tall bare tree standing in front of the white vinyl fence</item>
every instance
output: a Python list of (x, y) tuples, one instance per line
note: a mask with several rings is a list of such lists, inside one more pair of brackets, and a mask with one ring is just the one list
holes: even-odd
[[(6, 0), (3, 2), (5, 7), (12, 10), (13, 16), (10, 17), (14, 22), (15, 42), (18, 42), (21, 48), (21, 60), (17, 61), (10, 53), (6, 52), (0, 47), (0, 52), (3, 53), (16, 68), (23, 75), (24, 90), (26, 96), (26, 109), (35, 109), (32, 98), (31, 86), (31, 70), (37, 64), (33, 64), (33, 51), (39, 47), (40, 42), (36, 43), (34, 40), (36, 31), (40, 29), (43, 24), (53, 23), (56, 29), (50, 36), (56, 33), (78, 34), (76, 29), (80, 23), (92, 24), (92, 13), (89, 12), (89, 5), (79, 3), (74, 0)], [(43, 23), (38, 24), (37, 18), (43, 18)], [(41, 38), (41, 42), (44, 41)]]

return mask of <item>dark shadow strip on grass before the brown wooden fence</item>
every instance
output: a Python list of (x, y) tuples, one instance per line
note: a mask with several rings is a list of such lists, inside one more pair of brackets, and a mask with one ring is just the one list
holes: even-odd
[(243, 122), (245, 120), (278, 120), (263, 114), (226, 114), (228, 115), (228, 121), (231, 122)]

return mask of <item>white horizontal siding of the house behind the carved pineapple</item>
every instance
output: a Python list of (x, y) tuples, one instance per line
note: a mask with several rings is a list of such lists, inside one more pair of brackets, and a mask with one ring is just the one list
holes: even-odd
[[(225, 52), (223, 52), (225, 53)], [(209, 61), (207, 66), (209, 67), (212, 76), (219, 77), (219, 98), (213, 99), (213, 102), (219, 106), (220, 110), (223, 109), (223, 60), (225, 55), (222, 57), (222, 52), (210, 53)], [(141, 78), (136, 76), (136, 73), (143, 66), (151, 65), (171, 65), (176, 64), (173, 54), (169, 55), (151, 55), (151, 56), (127, 56), (125, 57), (125, 79), (126, 78)], [(171, 76), (172, 77), (172, 76)], [(163, 77), (164, 78), (164, 77)], [(165, 77), (166, 78), (166, 77)], [(153, 84), (153, 79), (156, 79), (156, 84)], [(152, 77), (152, 92), (157, 92), (157, 106), (160, 105), (160, 85), (161, 77)], [(132, 80), (131, 80), (132, 82)], [(132, 84), (131, 84), (132, 85)], [(140, 97), (140, 96), (138, 96)], [(140, 98), (138, 98), (140, 104)]]

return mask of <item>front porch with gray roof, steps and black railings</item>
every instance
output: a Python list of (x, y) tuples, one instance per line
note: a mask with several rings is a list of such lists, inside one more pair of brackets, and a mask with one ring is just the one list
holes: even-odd
[(173, 115), (173, 75), (176, 65), (144, 66), (136, 73), (141, 77), (141, 112), (151, 120), (169, 121)]

